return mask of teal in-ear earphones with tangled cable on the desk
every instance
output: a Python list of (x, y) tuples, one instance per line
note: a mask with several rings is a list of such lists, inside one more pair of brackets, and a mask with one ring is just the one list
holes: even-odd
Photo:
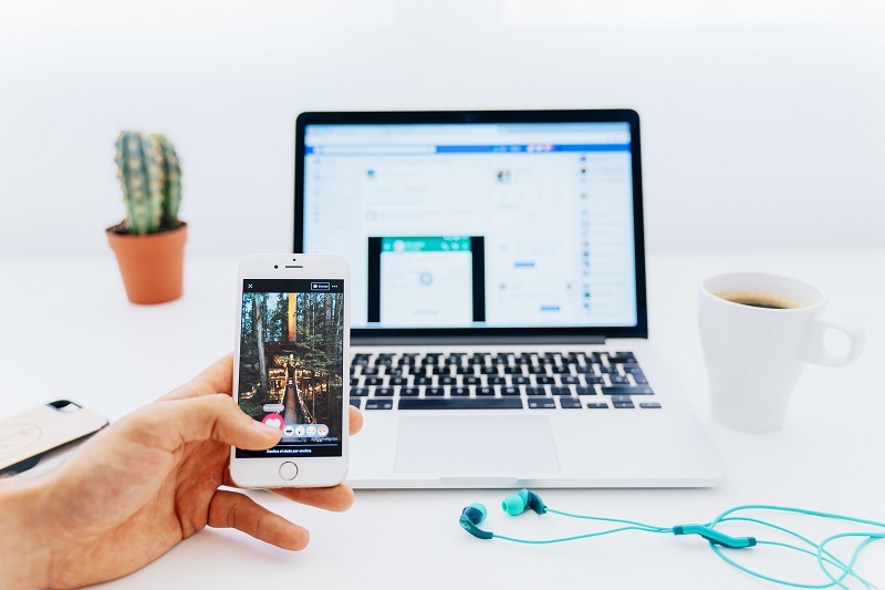
[[(712, 550), (727, 563), (738, 568), (739, 570), (748, 573), (750, 576), (754, 576), (757, 578), (768, 580), (770, 582), (780, 583), (783, 586), (789, 586), (792, 588), (831, 588), (831, 587), (839, 587), (839, 588), (848, 588), (845, 586), (845, 581), (848, 579), (853, 579), (856, 583), (860, 583), (864, 588), (873, 589), (876, 588), (866, 579), (862, 578), (855, 570), (854, 563), (857, 561), (861, 551), (866, 547), (870, 542), (878, 539), (885, 538), (885, 522), (877, 522), (875, 520), (867, 520), (863, 518), (854, 518), (850, 516), (842, 516), (835, 515), (830, 513), (820, 513), (816, 510), (804, 510), (802, 508), (790, 508), (785, 506), (770, 506), (764, 504), (754, 504), (754, 505), (745, 505), (745, 506), (736, 506), (735, 508), (729, 508), (725, 513), (720, 514), (716, 518), (714, 518), (710, 522), (706, 525), (678, 525), (675, 527), (656, 527), (653, 525), (645, 525), (643, 522), (636, 522), (633, 520), (623, 520), (620, 518), (604, 518), (600, 516), (587, 516), (587, 515), (576, 515), (571, 513), (563, 513), (561, 510), (554, 510), (549, 508), (541, 497), (538, 496), (535, 493), (529, 489), (520, 489), (518, 494), (511, 494), (501, 503), (501, 508), (503, 511), (511, 516), (517, 516), (525, 511), (527, 508), (531, 508), (539, 515), (544, 514), (555, 514), (560, 516), (565, 516), (569, 518), (581, 518), (585, 520), (594, 520), (597, 522), (607, 522), (617, 525), (615, 528), (611, 528), (607, 530), (601, 530), (596, 532), (589, 532), (585, 535), (576, 535), (573, 537), (561, 537), (554, 539), (519, 539), (514, 537), (506, 537), (503, 535), (497, 535), (490, 530), (483, 530), (479, 528), (479, 525), (486, 519), (487, 511), (486, 507), (481, 504), (471, 504), (470, 506), (466, 507), (461, 511), (461, 517), (459, 519), (459, 524), (461, 528), (464, 528), (467, 532), (477, 537), (479, 539), (501, 539), (506, 541), (512, 542), (521, 542), (521, 544), (529, 544), (529, 545), (549, 545), (554, 542), (565, 542), (565, 541), (573, 541), (577, 539), (589, 539), (591, 537), (602, 537), (604, 535), (611, 535), (613, 532), (621, 532), (624, 530), (639, 530), (645, 532), (657, 532), (657, 534), (668, 534), (668, 535), (698, 535), (709, 541), (710, 547)], [(865, 525), (873, 528), (878, 528), (881, 531), (878, 532), (870, 532), (870, 531), (848, 531), (848, 532), (840, 532), (837, 535), (831, 535), (826, 537), (821, 542), (814, 542), (813, 540), (799, 535), (792, 530), (789, 530), (784, 527), (779, 525), (774, 525), (768, 522), (766, 520), (761, 520), (759, 518), (752, 518), (749, 516), (738, 516), (738, 513), (746, 511), (746, 510), (768, 510), (768, 511), (775, 511), (775, 513), (790, 513), (790, 514), (799, 514), (799, 515), (806, 515), (813, 516), (819, 518), (830, 518), (834, 520), (842, 520), (845, 522), (854, 522), (858, 525)], [(791, 545), (789, 542), (775, 541), (775, 540), (764, 540), (759, 539), (757, 540), (756, 537), (732, 537), (730, 535), (726, 535), (720, 530), (716, 530), (716, 526), (721, 522), (730, 522), (730, 521), (740, 521), (740, 522), (749, 522), (753, 525), (759, 525), (762, 527), (768, 527), (773, 530), (778, 530), (782, 534), (785, 534), (790, 537), (793, 537), (796, 541), (801, 541), (802, 546)], [(847, 561), (843, 561), (842, 559), (837, 558), (831, 551), (826, 549), (826, 546), (837, 539), (846, 539), (846, 538), (855, 538), (858, 539), (860, 542), (855, 547), (854, 551), (852, 552), (850, 559)], [(779, 578), (773, 578), (771, 576), (766, 576), (758, 571), (753, 571), (749, 568), (741, 566), (740, 563), (736, 562), (733, 559), (728, 557), (723, 551), (722, 548), (726, 549), (745, 549), (749, 547), (756, 546), (773, 546), (773, 547), (781, 547), (785, 549), (791, 549), (799, 551), (804, 555), (812, 556), (816, 559), (818, 567), (820, 570), (826, 576), (829, 581), (824, 581), (818, 584), (809, 584), (809, 583), (799, 583), (789, 580), (783, 580)], [(855, 586), (856, 586), (855, 583)]]

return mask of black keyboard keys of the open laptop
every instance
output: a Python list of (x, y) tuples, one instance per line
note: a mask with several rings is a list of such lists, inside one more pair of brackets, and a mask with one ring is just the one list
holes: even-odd
[(362, 410), (652, 410), (632, 352), (355, 354), (351, 404)]

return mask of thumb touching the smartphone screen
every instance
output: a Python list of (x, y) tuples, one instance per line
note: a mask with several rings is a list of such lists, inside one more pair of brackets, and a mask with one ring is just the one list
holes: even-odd
[[(258, 451), (280, 442), (281, 431), (252, 420), (227, 394), (162, 400), (147, 406), (149, 427), (174, 451), (184, 443), (214, 439)], [(147, 410), (146, 408), (146, 410)]]

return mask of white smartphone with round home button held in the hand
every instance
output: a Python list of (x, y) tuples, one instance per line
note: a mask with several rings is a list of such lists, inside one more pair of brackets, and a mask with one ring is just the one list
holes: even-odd
[(240, 262), (233, 395), (282, 431), (267, 451), (231, 447), (241, 487), (333, 486), (347, 475), (350, 268), (340, 256)]

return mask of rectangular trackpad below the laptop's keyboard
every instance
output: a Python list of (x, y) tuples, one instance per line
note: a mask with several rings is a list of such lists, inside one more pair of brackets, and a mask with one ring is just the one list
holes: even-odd
[(544, 416), (405, 416), (396, 473), (504, 475), (558, 473)]

